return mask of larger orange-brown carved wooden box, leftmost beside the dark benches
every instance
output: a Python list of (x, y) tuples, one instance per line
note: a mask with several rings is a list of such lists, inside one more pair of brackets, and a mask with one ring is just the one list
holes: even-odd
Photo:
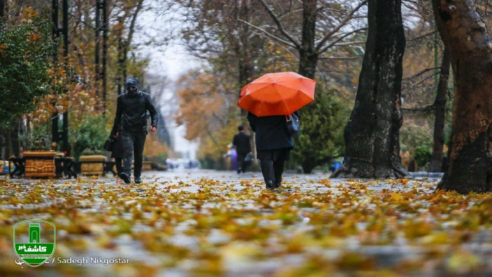
[(24, 151), (26, 178), (54, 178), (55, 151)]

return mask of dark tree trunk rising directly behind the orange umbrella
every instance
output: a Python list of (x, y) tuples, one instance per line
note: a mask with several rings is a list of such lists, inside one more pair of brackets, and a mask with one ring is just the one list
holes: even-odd
[(303, 0), (303, 34), (299, 50), (299, 74), (314, 79), (318, 53), (314, 44), (317, 0)]

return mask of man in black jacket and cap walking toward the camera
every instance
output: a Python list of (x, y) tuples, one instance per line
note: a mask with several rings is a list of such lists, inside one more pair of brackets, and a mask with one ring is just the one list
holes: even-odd
[(138, 80), (126, 80), (126, 93), (118, 97), (116, 116), (111, 134), (121, 136), (123, 145), (123, 169), (120, 178), (130, 183), (132, 156), (135, 159), (135, 183), (141, 183), (142, 161), (147, 137), (147, 111), (151, 114), (151, 131), (157, 130), (157, 110), (148, 93), (138, 90)]

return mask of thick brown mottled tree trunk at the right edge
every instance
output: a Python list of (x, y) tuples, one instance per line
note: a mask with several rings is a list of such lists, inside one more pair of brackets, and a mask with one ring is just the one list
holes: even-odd
[(473, 0), (432, 0), (455, 93), (449, 164), (438, 189), (492, 191), (492, 41)]

